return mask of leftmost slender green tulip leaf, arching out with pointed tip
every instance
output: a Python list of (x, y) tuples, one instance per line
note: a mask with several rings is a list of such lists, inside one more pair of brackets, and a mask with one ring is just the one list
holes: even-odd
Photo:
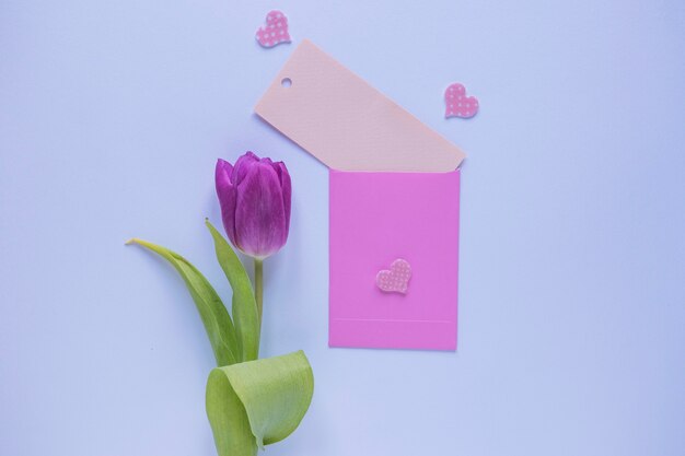
[(137, 238), (130, 239), (127, 244), (138, 244), (154, 252), (181, 274), (209, 336), (217, 365), (230, 365), (240, 361), (239, 344), (231, 316), (205, 276), (184, 257), (167, 248)]

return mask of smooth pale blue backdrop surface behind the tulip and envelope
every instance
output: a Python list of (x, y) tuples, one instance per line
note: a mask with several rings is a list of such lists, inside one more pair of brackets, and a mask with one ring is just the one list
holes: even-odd
[[(328, 349), (327, 180), (252, 115), (309, 37), (467, 153), (456, 353)], [(230, 292), (218, 156), (286, 160), (263, 353), (310, 413), (267, 455), (685, 452), (681, 0), (0, 3), (0, 454), (212, 455), (212, 355), (173, 247)], [(443, 119), (443, 91), (480, 101)]]

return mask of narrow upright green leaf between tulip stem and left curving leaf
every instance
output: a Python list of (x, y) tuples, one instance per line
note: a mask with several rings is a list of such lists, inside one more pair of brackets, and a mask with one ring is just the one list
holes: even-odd
[(214, 238), (214, 249), (217, 259), (225, 273), (231, 288), (233, 289), (233, 320), (237, 342), (241, 349), (242, 361), (253, 361), (259, 355), (259, 316), (257, 314), (257, 303), (255, 293), (252, 290), (252, 282), (243, 267), (240, 258), (231, 248), (228, 241), (217, 231), (217, 229), (205, 220)]

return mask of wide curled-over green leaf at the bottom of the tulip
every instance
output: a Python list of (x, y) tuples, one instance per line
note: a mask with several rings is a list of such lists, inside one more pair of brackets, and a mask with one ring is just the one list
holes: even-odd
[(207, 417), (219, 456), (252, 456), (290, 435), (314, 393), (302, 351), (216, 367), (207, 381)]

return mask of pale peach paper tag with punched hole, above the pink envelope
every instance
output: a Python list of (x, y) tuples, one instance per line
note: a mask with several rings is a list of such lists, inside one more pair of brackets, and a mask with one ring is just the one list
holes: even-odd
[(255, 112), (333, 169), (440, 173), (465, 157), (306, 39)]

